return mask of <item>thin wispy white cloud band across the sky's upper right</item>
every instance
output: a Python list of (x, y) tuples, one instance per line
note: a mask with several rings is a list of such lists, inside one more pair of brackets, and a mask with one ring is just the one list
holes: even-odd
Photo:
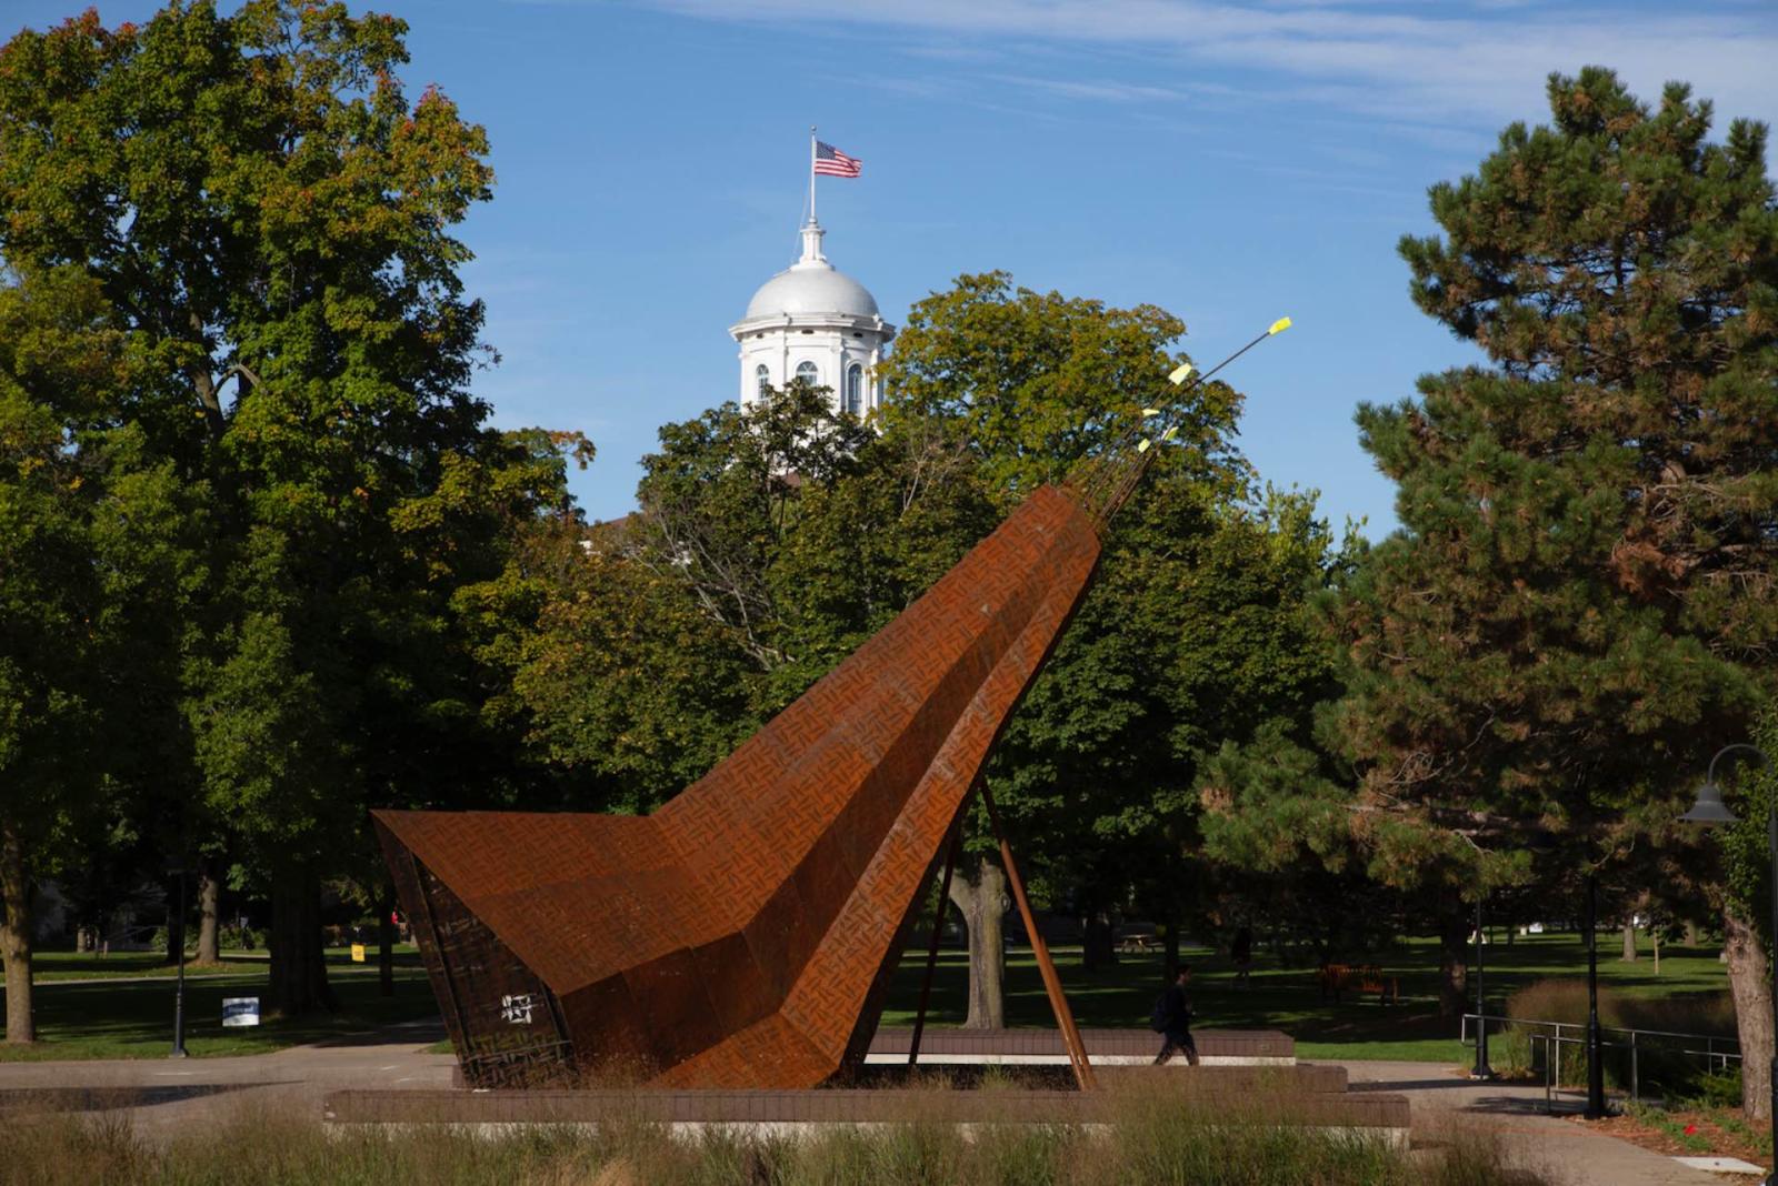
[[(1200, 0), (637, 2), (709, 20), (901, 28), (921, 39), (905, 51), (960, 66), (974, 53), (1061, 43), (1140, 51), (1159, 59), (1163, 69), (1268, 69), (1284, 78), (1282, 98), (1431, 124), (1497, 126), (1534, 115), (1549, 71), (1591, 62), (1618, 67), (1645, 96), (1670, 78), (1687, 78), (1716, 98), (1725, 115), (1778, 115), (1778, 12), (1769, 5), (1668, 16), (1520, 0), (1273, 0), (1262, 7)], [(935, 46), (933, 36), (958, 41)], [(1006, 73), (1003, 80), (1029, 85), (1028, 75)], [(1079, 78), (1045, 85), (1083, 101), (1172, 101), (1181, 89)]]

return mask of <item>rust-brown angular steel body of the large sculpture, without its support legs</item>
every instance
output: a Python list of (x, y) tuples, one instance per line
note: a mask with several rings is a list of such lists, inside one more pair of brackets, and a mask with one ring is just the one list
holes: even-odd
[(1099, 559), (1044, 486), (649, 817), (377, 811), (469, 1081), (813, 1087), (869, 1048), (946, 834)]

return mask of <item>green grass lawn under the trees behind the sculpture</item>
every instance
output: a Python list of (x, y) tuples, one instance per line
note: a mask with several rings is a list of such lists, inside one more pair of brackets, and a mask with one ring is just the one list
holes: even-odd
[[(375, 952), (370, 952), (375, 959)], [(903, 955), (894, 973), (884, 1024), (910, 1024), (919, 1003), (925, 948)], [(1088, 973), (1079, 948), (1054, 952), (1063, 987), (1083, 1026), (1141, 1028), (1161, 991), (1159, 955), (1122, 955), (1113, 968)], [(1374, 962), (1399, 978), (1403, 1005), (1374, 998), (1323, 1001), (1314, 968), (1287, 968), (1269, 952), (1255, 952), (1252, 984), (1234, 984), (1227, 957), (1186, 948), (1195, 969), (1193, 1003), (1205, 1030), (1284, 1030), (1305, 1058), (1403, 1058), (1460, 1063), (1469, 1060), (1456, 1023), (1438, 1017), (1438, 948), (1431, 939), (1408, 939), (1392, 953), (1353, 959)], [(327, 953), (341, 1012), (297, 1023), (272, 1021), (256, 1030), (222, 1030), (222, 998), (263, 994), (263, 953), (229, 952), (224, 971), (206, 971), (187, 982), (187, 1049), (192, 1055), (245, 1055), (363, 1032), (379, 1024), (436, 1017), (437, 1005), (412, 946), (396, 950), (396, 992), (379, 996), (375, 962), (352, 964), (345, 948)], [(172, 1040), (172, 971), (156, 955), (37, 955), (37, 1028), (43, 1040), (20, 1051), (0, 1046), (11, 1058), (156, 1058)], [(1634, 964), (1618, 959), (1616, 934), (1600, 932), (1600, 982), (1648, 998), (1689, 998), (1726, 992), (1728, 973), (1716, 948), (1666, 948), (1655, 976), (1646, 943)], [(59, 984), (89, 976), (158, 976), (124, 984)], [(1536, 980), (1586, 975), (1586, 948), (1574, 934), (1520, 937), (1513, 946), (1488, 946), (1488, 1010), (1502, 1012), (1506, 994)], [(967, 968), (962, 950), (939, 953), (930, 1023), (962, 1024)], [(1049, 1000), (1028, 948), (1006, 957), (1006, 1019), (1013, 1026), (1051, 1026)]]

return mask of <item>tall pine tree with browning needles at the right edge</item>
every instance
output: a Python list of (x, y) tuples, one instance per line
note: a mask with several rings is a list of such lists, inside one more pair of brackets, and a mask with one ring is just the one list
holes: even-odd
[(1710, 142), (1687, 87), (1648, 107), (1597, 67), (1549, 99), (1552, 124), (1431, 188), (1442, 236), (1401, 241), (1415, 304), (1488, 366), (1360, 408), (1401, 531), (1328, 609), (1348, 692), (1321, 739), (1357, 772), (1355, 827), (1378, 872), (1447, 895), (1531, 833), (1588, 870), (1671, 833), (1778, 643), (1766, 128)]

